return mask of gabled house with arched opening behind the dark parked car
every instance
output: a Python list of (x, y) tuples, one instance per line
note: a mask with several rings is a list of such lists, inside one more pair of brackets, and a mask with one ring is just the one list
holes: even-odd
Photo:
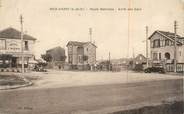
[[(176, 61), (184, 64), (184, 37), (176, 36)], [(174, 38), (174, 33), (159, 30), (149, 37), (152, 65), (165, 66), (174, 63)]]

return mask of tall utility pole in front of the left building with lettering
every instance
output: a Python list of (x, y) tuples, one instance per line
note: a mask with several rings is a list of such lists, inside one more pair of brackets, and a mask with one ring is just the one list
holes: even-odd
[(21, 60), (22, 60), (22, 73), (24, 73), (24, 47), (23, 47), (23, 17), (20, 15), (21, 24)]

